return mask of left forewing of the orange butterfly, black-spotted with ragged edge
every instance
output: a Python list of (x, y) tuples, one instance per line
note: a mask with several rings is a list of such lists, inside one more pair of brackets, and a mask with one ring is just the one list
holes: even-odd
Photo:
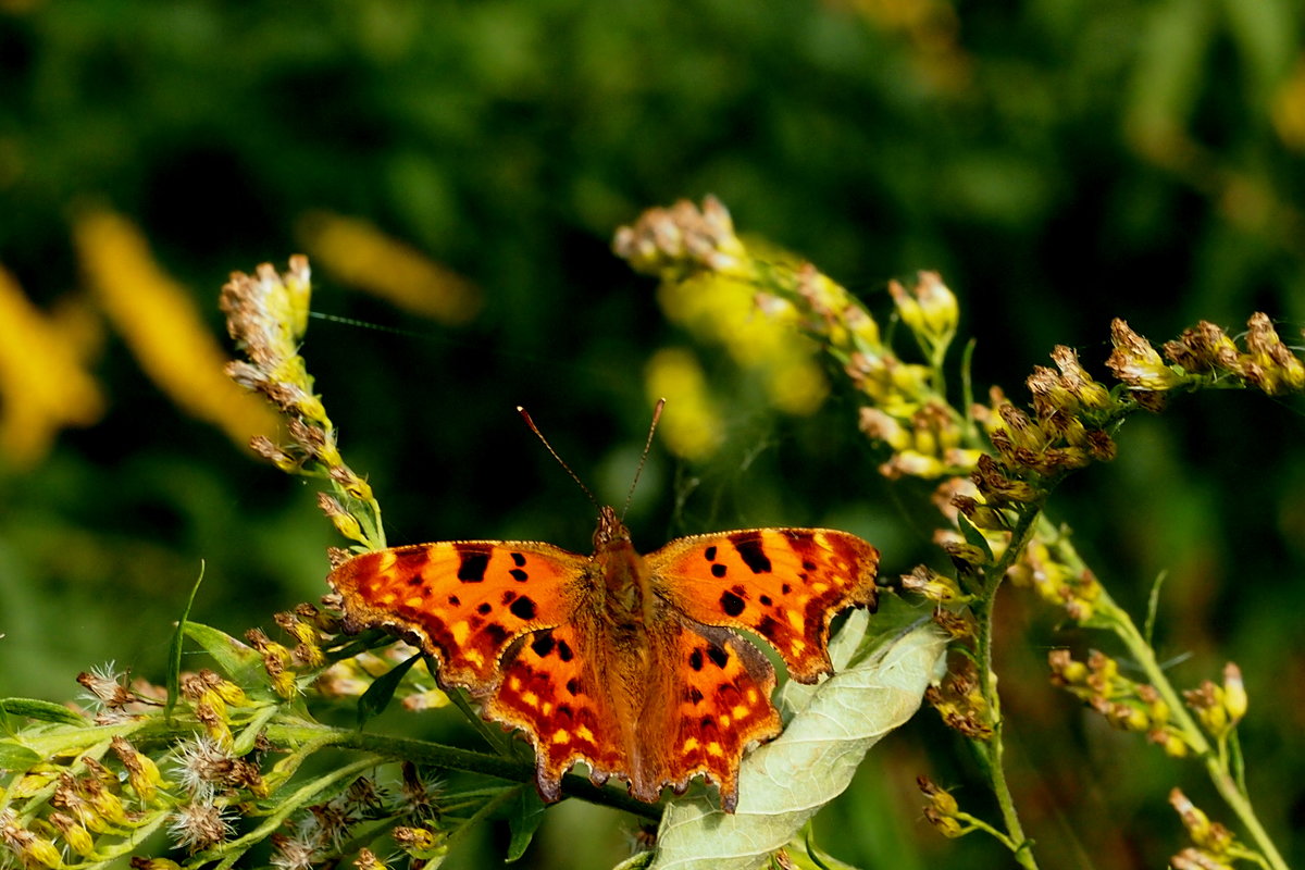
[(566, 622), (587, 558), (536, 541), (445, 541), (355, 556), (328, 577), (348, 627), (416, 637), (440, 680), (484, 694), (529, 631)]

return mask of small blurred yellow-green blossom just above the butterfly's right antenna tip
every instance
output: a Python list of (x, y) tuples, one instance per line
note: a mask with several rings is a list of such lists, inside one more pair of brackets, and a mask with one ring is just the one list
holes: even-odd
[(690, 460), (716, 451), (723, 441), (720, 420), (693, 353), (676, 347), (658, 351), (647, 363), (645, 383), (651, 400), (667, 400), (668, 410), (658, 427), (667, 450)]

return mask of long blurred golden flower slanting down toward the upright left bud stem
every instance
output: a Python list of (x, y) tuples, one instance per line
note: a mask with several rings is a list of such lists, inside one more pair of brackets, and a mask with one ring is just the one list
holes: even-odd
[(159, 389), (240, 446), (275, 434), (275, 415), (227, 380), (227, 356), (192, 295), (163, 273), (140, 230), (106, 210), (80, 214), (73, 230), (97, 301)]

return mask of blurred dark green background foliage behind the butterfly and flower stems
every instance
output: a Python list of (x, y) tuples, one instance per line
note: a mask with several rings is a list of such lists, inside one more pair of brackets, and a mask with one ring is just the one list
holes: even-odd
[[(684, 347), (723, 443), (697, 463), (654, 450), (630, 511), (643, 549), (827, 523), (880, 545), (889, 575), (941, 567), (914, 507), (928, 488), (880, 479), (837, 373), (812, 415), (766, 407), (667, 323), (612, 232), (715, 193), (885, 317), (889, 278), (938, 269), (976, 383), (1017, 399), (1056, 343), (1104, 377), (1112, 317), (1160, 342), (1262, 309), (1298, 344), (1302, 25), (1293, 0), (0, 0), (0, 694), (67, 699), (106, 660), (159, 678), (201, 560), (193, 616), (234, 634), (325, 591), (339, 539), (311, 488), (238, 446), (256, 412), (213, 377), (227, 273), (298, 250), (315, 310), (401, 330), (315, 321), (304, 347), (393, 543), (587, 552), (591, 507), (513, 408), (620, 502), (645, 364)], [(1053, 505), (1134, 612), (1168, 573), (1177, 682), (1241, 664), (1250, 788), (1297, 861), (1302, 430), (1300, 403), (1176, 402)], [(1184, 845), (1176, 784), (1231, 820), (1195, 766), (1047, 685), (1047, 648), (1091, 638), (1005, 603), (1013, 783), (1044, 867), (1161, 866)], [(990, 811), (936, 719), (817, 819), (833, 854), (1009, 865), (921, 819), (919, 772)], [(609, 866), (626, 841), (613, 813), (568, 802), (526, 862)], [(446, 866), (504, 848), (489, 826)]]

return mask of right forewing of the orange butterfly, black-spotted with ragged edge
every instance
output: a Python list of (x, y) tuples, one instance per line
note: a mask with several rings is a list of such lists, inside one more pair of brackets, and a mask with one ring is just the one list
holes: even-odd
[(877, 605), (880, 552), (829, 528), (749, 528), (671, 541), (645, 557), (660, 595), (706, 625), (762, 637), (799, 682), (830, 673), (829, 623)]

